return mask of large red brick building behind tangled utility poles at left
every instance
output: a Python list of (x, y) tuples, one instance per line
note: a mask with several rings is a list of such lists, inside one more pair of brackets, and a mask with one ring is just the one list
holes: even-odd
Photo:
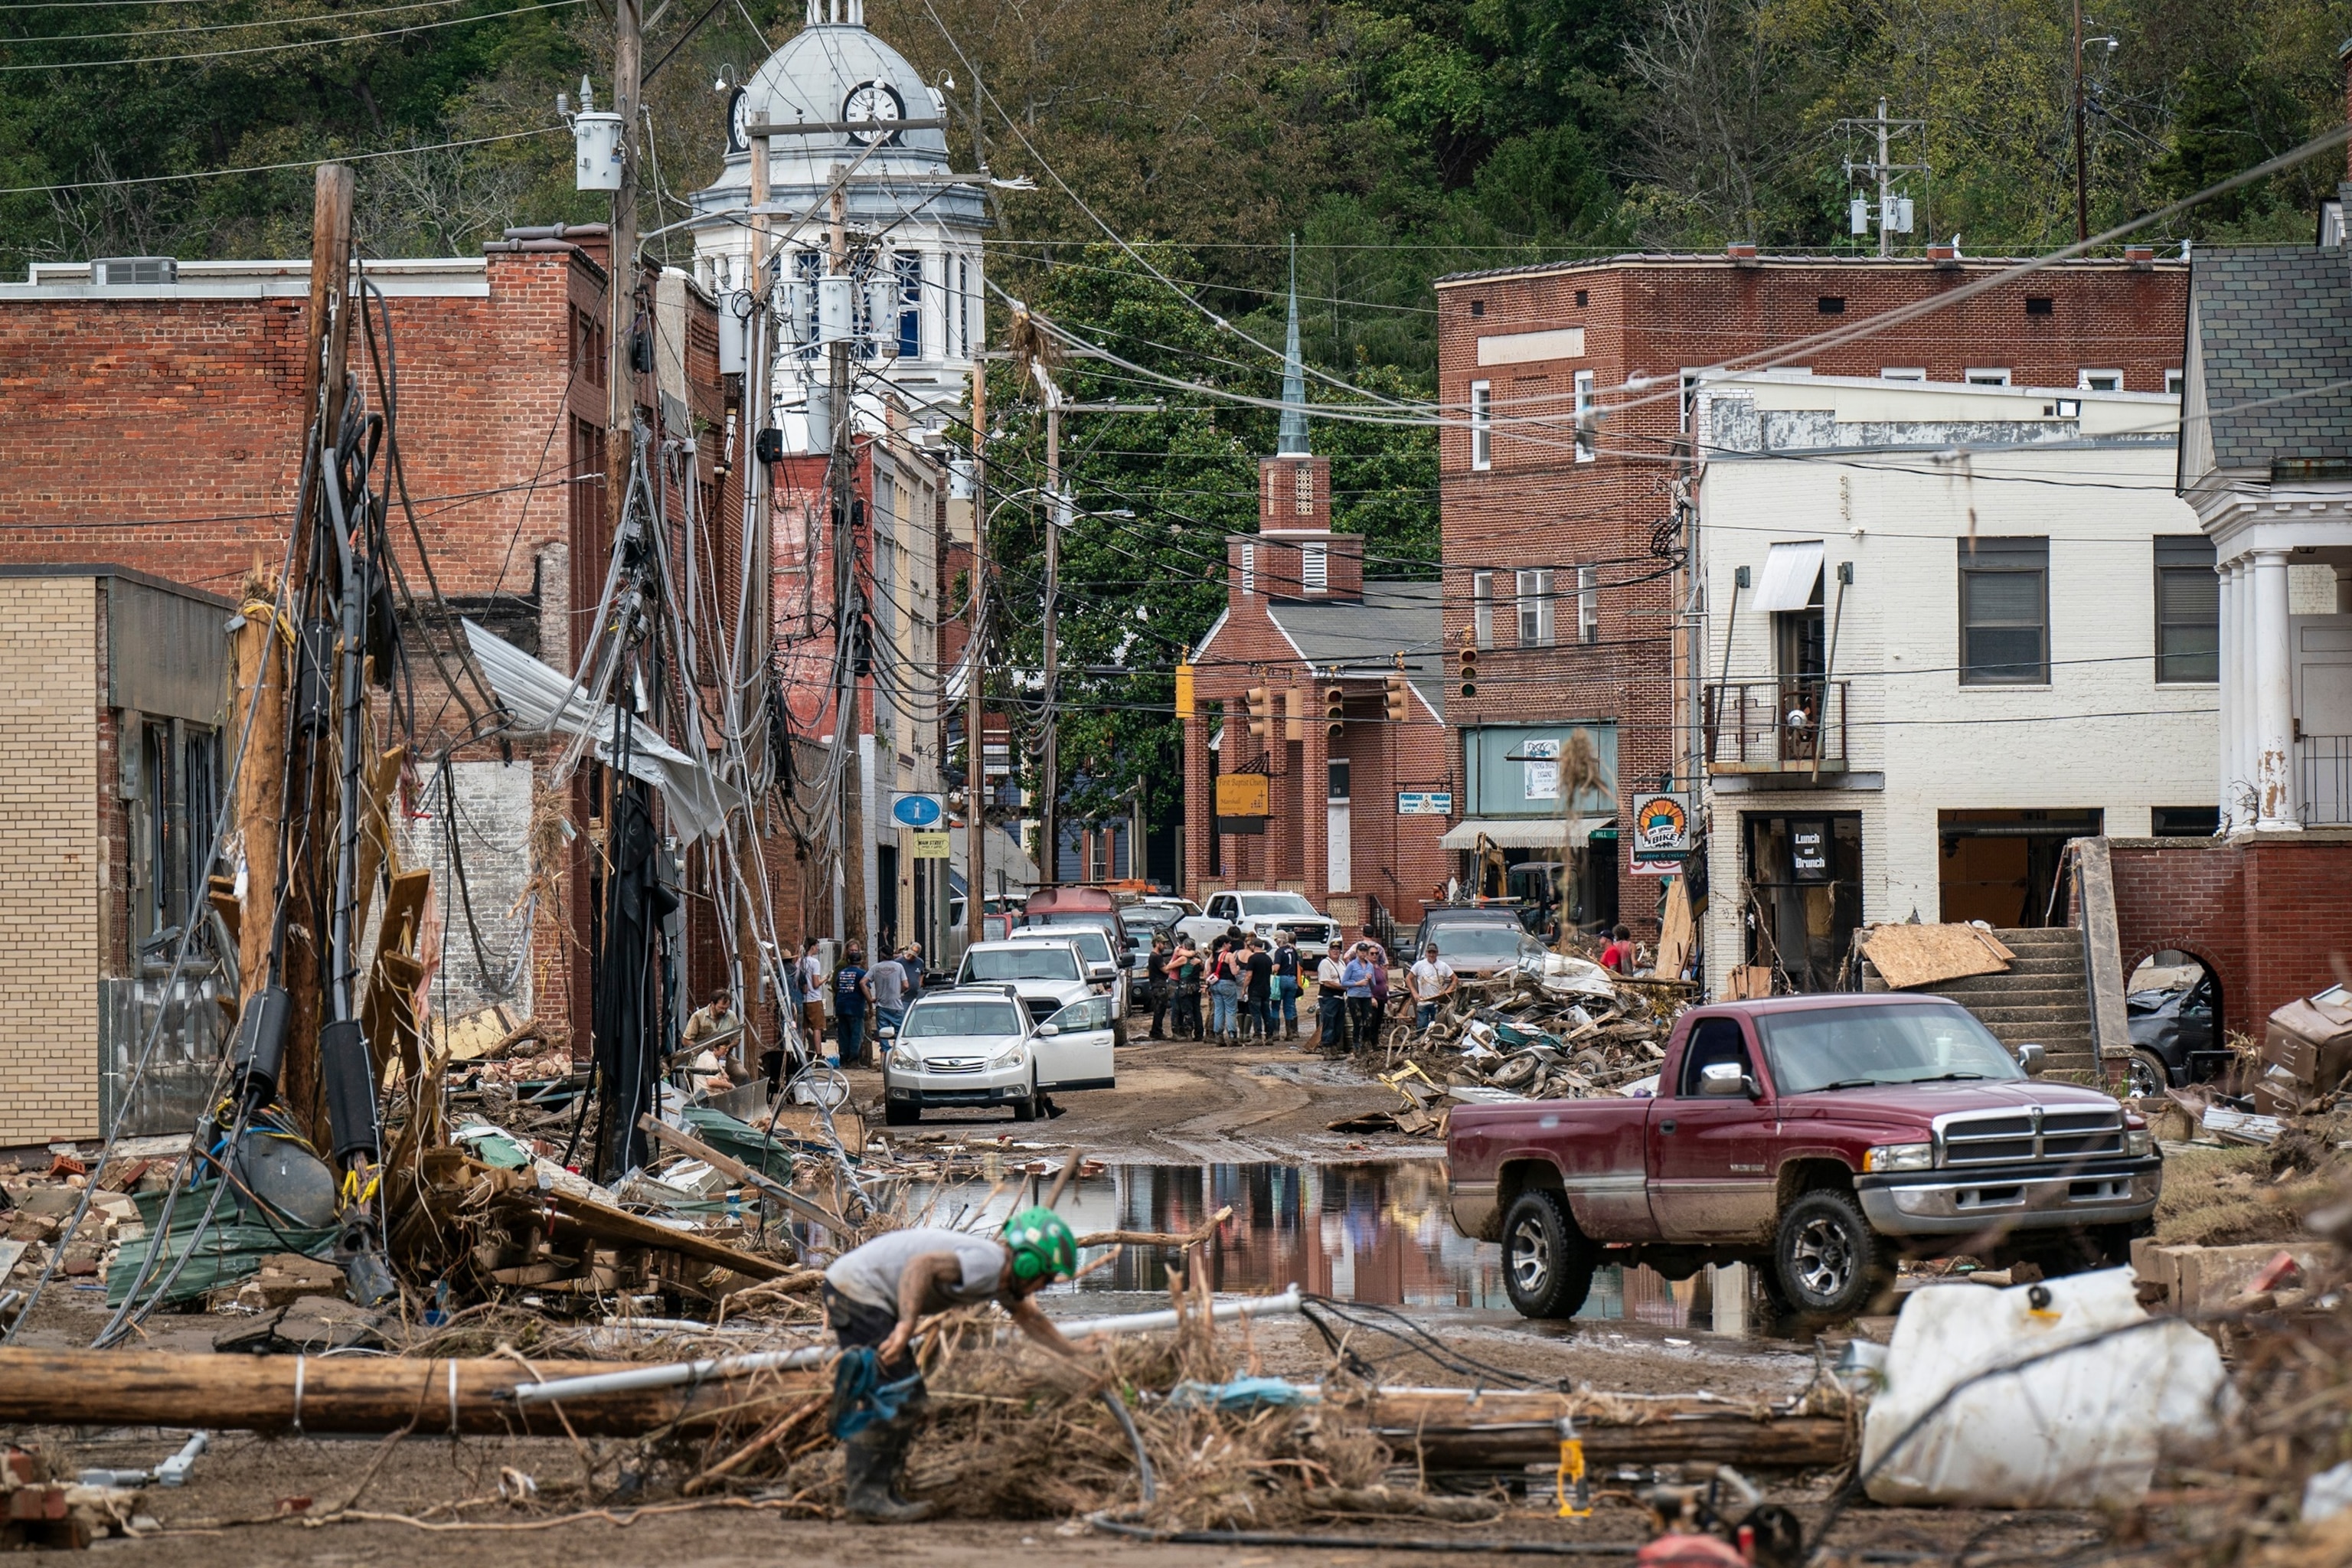
[[(367, 263), (383, 294), (372, 324), (379, 334), (388, 324), (397, 367), (400, 477), (433, 581), (452, 609), (557, 670), (588, 646), (609, 557), (604, 244), (602, 226), (513, 230), (482, 256)], [(0, 449), (14, 473), (0, 494), (0, 567), (103, 559), (122, 569), (115, 581), (153, 574), (216, 597), (235, 595), (256, 562), (275, 574), (301, 458), (308, 270), (308, 261), (35, 263), (28, 282), (0, 284)], [(640, 416), (659, 418), (670, 440), (673, 520), (682, 487), (694, 487), (703, 592), (724, 621), (741, 592), (729, 562), (741, 557), (743, 480), (729, 484), (724, 468), (748, 447), (739, 383), (720, 376), (715, 310), (691, 280), (647, 275), (644, 301), (654, 369), (640, 376)], [(358, 327), (350, 362), (367, 404), (381, 409)], [(409, 588), (426, 599), (397, 501), (390, 527)], [(447, 630), (428, 616), (405, 637), (416, 755), (402, 856), (430, 865), (440, 891), (461, 856), (470, 891), (470, 922), (445, 912), (442, 929), (456, 936), (445, 943), (435, 1011), (503, 1001), (569, 1030), (586, 1053), (602, 827), (590, 783), (602, 771), (581, 769), (569, 795), (550, 792), (534, 743), (482, 738), (489, 726), (466, 710), (480, 698), (470, 689), (452, 698), (435, 682), (426, 642), (447, 654)], [(454, 813), (430, 811), (445, 755)], [(226, 752), (219, 762), (226, 769)], [(560, 917), (517, 914), (548, 813), (576, 830), (557, 867)], [(779, 860), (790, 865), (788, 844), (769, 853)], [(715, 914), (691, 893), (708, 893), (710, 872), (699, 853), (684, 872), (689, 950), (706, 950), (696, 922)], [(790, 877), (776, 879), (776, 900), (779, 922), (797, 926)]]

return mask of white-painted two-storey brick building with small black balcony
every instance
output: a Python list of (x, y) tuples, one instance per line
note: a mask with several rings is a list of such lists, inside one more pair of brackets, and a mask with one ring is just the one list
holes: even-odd
[(1877, 922), (2065, 924), (2065, 839), (2211, 835), (2218, 578), (2176, 400), (1698, 395), (1705, 969), (1832, 990)]

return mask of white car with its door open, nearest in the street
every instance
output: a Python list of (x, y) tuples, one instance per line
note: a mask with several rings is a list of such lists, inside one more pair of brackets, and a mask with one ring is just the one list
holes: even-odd
[(1035, 1121), (1049, 1093), (1117, 1086), (1103, 997), (1075, 997), (1042, 1023), (1023, 1001), (1014, 983), (917, 997), (896, 1030), (882, 1030), (882, 1121), (993, 1105)]

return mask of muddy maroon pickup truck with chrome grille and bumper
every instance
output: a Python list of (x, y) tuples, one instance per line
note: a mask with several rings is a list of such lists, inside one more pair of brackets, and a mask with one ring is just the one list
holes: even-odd
[(1573, 1316), (1602, 1262), (1769, 1265), (1811, 1321), (1867, 1309), (1907, 1255), (2122, 1262), (2164, 1185), (2147, 1124), (2018, 1058), (1943, 997), (1698, 1006), (1651, 1100), (1454, 1107), (1454, 1225), (1503, 1244), (1526, 1316)]

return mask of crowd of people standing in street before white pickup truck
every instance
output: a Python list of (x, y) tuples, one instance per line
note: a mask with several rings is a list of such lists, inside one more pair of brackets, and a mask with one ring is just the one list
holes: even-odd
[[(1430, 947), (1430, 959), (1437, 950)], [(1451, 990), (1454, 971), (1446, 969)], [(1414, 966), (1416, 985), (1421, 964)], [(1291, 931), (1268, 940), (1228, 926), (1211, 943), (1162, 931), (1145, 964), (1150, 1039), (1200, 1039), (1242, 1046), (1298, 1039), (1298, 1006), (1315, 985), (1312, 1030), (1324, 1051), (1369, 1046), (1388, 1011), (1388, 950), (1367, 926), (1355, 943), (1334, 943), (1308, 973)]]

